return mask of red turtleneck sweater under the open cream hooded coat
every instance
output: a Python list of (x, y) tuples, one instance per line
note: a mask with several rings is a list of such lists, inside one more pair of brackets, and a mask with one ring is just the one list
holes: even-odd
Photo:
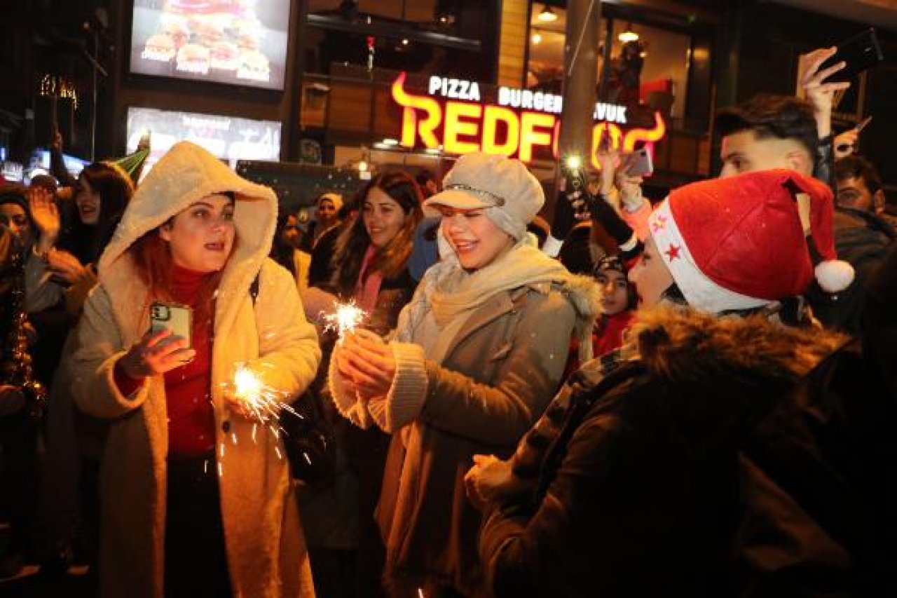
[[(196, 307), (196, 293), (206, 277), (202, 272), (172, 266), (171, 295), (178, 303)], [(215, 422), (212, 406), (212, 321), (193, 319), (196, 356), (187, 365), (165, 374), (165, 402), (169, 418), (169, 459), (183, 461), (213, 451)], [(116, 383), (130, 394), (142, 383), (116, 368)]]

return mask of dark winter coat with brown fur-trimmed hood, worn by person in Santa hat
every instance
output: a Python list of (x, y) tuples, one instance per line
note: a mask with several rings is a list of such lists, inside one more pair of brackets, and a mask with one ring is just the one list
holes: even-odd
[(693, 312), (647, 314), (635, 334), (638, 356), (584, 366), (546, 411), (556, 425), (518, 447), (538, 483), (486, 514), (493, 593), (848, 596), (883, 583), (864, 575), (886, 545), (873, 544), (886, 504), (873, 464), (893, 447), (868, 440), (893, 414), (857, 346)]

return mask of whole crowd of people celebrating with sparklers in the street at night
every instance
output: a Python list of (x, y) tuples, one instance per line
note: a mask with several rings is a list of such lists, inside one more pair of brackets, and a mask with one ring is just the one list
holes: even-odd
[(310, 223), (189, 142), (139, 184), (98, 162), (4, 186), (0, 578), (893, 594), (895, 229), (833, 135), (832, 53), (806, 99), (718, 113), (717, 179), (652, 205), (601, 149), (551, 224), (525, 164), (479, 153), (324, 193)]

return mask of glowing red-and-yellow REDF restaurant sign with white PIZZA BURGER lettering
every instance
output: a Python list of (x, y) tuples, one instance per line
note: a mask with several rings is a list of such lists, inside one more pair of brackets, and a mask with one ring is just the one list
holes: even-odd
[[(392, 84), (392, 97), (402, 107), (402, 138), (405, 147), (423, 145), (449, 154), (504, 154), (532, 162), (538, 148), (558, 157), (562, 97), (553, 93), (500, 87), (497, 102), (484, 103), (476, 82), (431, 76), (428, 95), (405, 91), (405, 73)], [(439, 98), (439, 99), (437, 99)], [(653, 144), (666, 135), (666, 122), (654, 112), (652, 128), (631, 127), (627, 108), (598, 102), (592, 115), (592, 165), (605, 131), (611, 145), (631, 152), (643, 142)]]

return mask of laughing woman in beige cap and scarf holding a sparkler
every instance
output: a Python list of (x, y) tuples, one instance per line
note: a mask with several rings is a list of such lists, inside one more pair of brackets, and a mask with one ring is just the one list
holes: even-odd
[(572, 335), (588, 339), (597, 312), (594, 283), (526, 233), (544, 193), (523, 163), (467, 154), (443, 189), (425, 202), (442, 215), (443, 259), (395, 337), (347, 335), (329, 371), (344, 417), (392, 434), (376, 517), (396, 596), (483, 593), (465, 471), (475, 453), (513, 450), (561, 383)]

